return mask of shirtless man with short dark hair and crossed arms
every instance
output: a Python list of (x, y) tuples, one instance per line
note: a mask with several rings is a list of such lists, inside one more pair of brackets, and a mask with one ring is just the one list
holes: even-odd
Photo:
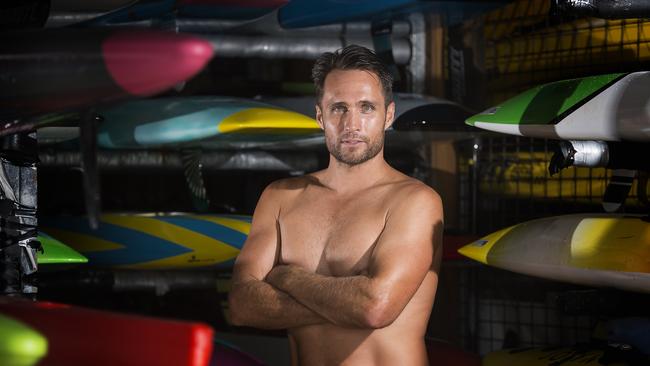
[(235, 264), (231, 321), (287, 329), (293, 365), (426, 365), (440, 197), (384, 160), (395, 105), (374, 53), (325, 53), (312, 76), (329, 166), (262, 193)]

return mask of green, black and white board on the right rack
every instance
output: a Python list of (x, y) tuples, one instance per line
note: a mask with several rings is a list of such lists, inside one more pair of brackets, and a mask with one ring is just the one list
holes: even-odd
[(650, 141), (650, 72), (562, 80), (529, 89), (467, 119), (511, 135)]

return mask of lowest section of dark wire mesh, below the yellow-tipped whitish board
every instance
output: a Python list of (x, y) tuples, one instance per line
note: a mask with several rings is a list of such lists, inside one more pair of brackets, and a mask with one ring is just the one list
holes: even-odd
[(463, 346), (481, 355), (512, 347), (589, 341), (597, 319), (565, 314), (557, 306), (575, 286), (478, 264), (458, 263)]

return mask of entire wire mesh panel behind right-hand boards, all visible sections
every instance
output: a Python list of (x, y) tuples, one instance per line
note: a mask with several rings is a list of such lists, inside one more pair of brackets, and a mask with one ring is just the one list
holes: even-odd
[[(447, 59), (448, 97), (478, 111), (548, 82), (649, 69), (650, 20), (580, 17), (558, 12), (553, 3), (512, 1), (449, 30), (446, 51), (455, 58)], [(550, 175), (556, 144), (487, 133), (458, 141), (461, 231), (486, 235), (536, 218), (604, 212), (611, 171), (570, 167)], [(648, 212), (639, 203), (637, 185), (635, 180), (624, 212)], [(638, 192), (647, 191), (647, 181), (641, 186)], [(572, 285), (469, 261), (445, 263), (441, 285), (448, 290), (445, 276), (457, 285), (460, 343), (480, 354), (587, 342), (600, 316), (561, 311), (558, 299), (567, 292), (591, 291)], [(639, 314), (649, 316), (647, 309)]]

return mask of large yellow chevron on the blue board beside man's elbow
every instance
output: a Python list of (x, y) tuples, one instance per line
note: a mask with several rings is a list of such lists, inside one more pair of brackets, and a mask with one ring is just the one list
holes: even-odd
[[(192, 249), (193, 252), (127, 268), (153, 268), (162, 265), (195, 267), (216, 264), (234, 258), (239, 250), (209, 236), (146, 216), (104, 215), (102, 221), (137, 230)], [(150, 267), (149, 267), (150, 266)]]

